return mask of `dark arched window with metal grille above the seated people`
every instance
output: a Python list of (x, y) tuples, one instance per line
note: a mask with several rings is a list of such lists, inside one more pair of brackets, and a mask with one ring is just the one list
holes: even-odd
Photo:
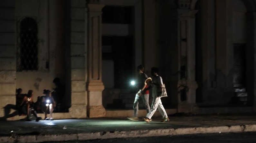
[(38, 69), (38, 28), (33, 18), (24, 18), (20, 22), (19, 46), (20, 64), (18, 70)]

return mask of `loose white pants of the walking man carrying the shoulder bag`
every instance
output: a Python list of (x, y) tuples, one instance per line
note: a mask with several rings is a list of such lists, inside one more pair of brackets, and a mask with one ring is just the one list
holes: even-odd
[(159, 112), (161, 113), (163, 118), (167, 118), (168, 117), (167, 114), (166, 114), (165, 108), (164, 108), (164, 106), (162, 104), (161, 98), (159, 98), (159, 97), (153, 97), (152, 105), (151, 105), (151, 110), (150, 110), (149, 113), (147, 113), (146, 117), (148, 119), (151, 119), (151, 117), (156, 112), (156, 109), (159, 110)]

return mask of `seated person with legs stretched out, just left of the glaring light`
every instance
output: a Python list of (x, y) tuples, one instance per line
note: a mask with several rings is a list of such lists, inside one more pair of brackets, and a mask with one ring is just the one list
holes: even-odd
[(20, 107), (22, 112), (26, 113), (27, 121), (31, 121), (29, 118), (29, 113), (31, 112), (36, 117), (36, 122), (40, 121), (42, 118), (37, 115), (36, 111), (33, 109), (33, 90), (29, 90), (28, 94), (25, 94)]

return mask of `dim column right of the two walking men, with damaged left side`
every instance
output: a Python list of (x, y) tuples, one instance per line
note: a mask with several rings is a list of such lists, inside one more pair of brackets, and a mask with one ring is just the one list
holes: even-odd
[[(195, 81), (195, 14), (197, 10), (182, 12), (180, 17), (180, 66), (185, 66), (184, 76), (178, 81), (179, 90), (185, 90), (186, 100), (178, 98), (178, 112), (197, 112)], [(182, 69), (181, 69), (182, 70)], [(180, 91), (181, 93), (181, 91)], [(181, 94), (179, 96), (182, 96)]]

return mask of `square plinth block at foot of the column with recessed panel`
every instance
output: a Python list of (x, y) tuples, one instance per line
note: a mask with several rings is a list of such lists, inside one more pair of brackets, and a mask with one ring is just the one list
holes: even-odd
[(101, 106), (89, 106), (88, 107), (88, 116), (90, 118), (105, 117), (106, 109), (102, 105)]

